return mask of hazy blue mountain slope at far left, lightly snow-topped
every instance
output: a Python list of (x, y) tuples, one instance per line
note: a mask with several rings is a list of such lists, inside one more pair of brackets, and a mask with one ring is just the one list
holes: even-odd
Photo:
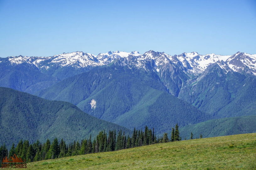
[[(18, 56), (17, 60), (0, 60), (0, 86), (19, 91), (34, 93), (58, 82), (55, 77), (48, 76), (32, 63), (31, 58)], [(20, 59), (21, 61), (19, 61)], [(12, 63), (13, 62), (13, 63)], [(34, 91), (35, 90), (35, 91)]]

